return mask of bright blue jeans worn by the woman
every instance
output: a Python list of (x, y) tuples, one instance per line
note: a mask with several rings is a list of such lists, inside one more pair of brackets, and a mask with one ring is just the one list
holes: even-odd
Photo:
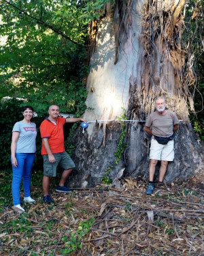
[(24, 190), (24, 197), (30, 196), (31, 168), (35, 158), (35, 153), (18, 153), (16, 154), (17, 167), (12, 165), (12, 196), (14, 205), (20, 204), (20, 182)]

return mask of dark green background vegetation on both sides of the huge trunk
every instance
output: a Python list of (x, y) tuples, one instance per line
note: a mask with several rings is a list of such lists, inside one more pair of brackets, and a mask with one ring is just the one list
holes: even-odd
[[(88, 24), (103, 15), (107, 0), (7, 1), (0, 3), (1, 36), (7, 38), (0, 48), (0, 152), (1, 175), (11, 180), (10, 144), (12, 128), (22, 119), (21, 106), (31, 104), (37, 112), (37, 153), (33, 172), (42, 170), (39, 125), (50, 104), (58, 104), (64, 113), (81, 116), (86, 109), (88, 75)], [(100, 11), (99, 11), (100, 10)], [(187, 59), (193, 56), (195, 84), (191, 87), (195, 113), (190, 113), (194, 131), (204, 139), (203, 96), (204, 55), (203, 1), (187, 1), (182, 41)], [(2, 39), (2, 38), (1, 38)], [(11, 99), (4, 99), (4, 97)], [(23, 98), (24, 100), (18, 100)], [(65, 127), (65, 147), (78, 126)], [(67, 130), (70, 133), (67, 134)], [(8, 176), (7, 176), (8, 175)], [(37, 177), (37, 176), (36, 176)], [(35, 179), (41, 186), (41, 177)], [(10, 182), (7, 183), (10, 186)], [(5, 189), (1, 186), (1, 189)], [(10, 190), (10, 188), (6, 188)]]

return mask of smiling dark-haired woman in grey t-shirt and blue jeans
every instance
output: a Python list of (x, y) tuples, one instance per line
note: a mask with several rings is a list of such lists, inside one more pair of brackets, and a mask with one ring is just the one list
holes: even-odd
[(20, 182), (24, 189), (24, 201), (33, 203), (35, 200), (30, 195), (31, 168), (35, 158), (36, 125), (31, 122), (33, 107), (24, 106), (22, 109), (24, 119), (17, 122), (12, 130), (12, 196), (15, 210), (23, 212), (20, 206)]

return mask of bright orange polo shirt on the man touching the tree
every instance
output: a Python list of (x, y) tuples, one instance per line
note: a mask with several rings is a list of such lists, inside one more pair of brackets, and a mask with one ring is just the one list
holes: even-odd
[[(47, 138), (52, 154), (65, 151), (63, 125), (66, 119), (57, 117), (56, 124), (53, 124), (47, 117), (39, 126), (41, 139)], [(41, 145), (41, 154), (47, 155), (44, 144)]]

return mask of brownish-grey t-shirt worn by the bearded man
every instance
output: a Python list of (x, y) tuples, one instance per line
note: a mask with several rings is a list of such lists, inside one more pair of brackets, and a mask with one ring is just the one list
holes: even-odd
[(159, 115), (157, 111), (148, 116), (146, 126), (152, 126), (152, 134), (159, 137), (170, 137), (173, 134), (173, 126), (179, 121), (173, 111), (167, 110), (165, 115)]

